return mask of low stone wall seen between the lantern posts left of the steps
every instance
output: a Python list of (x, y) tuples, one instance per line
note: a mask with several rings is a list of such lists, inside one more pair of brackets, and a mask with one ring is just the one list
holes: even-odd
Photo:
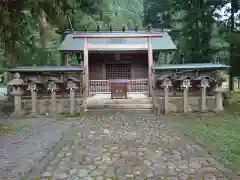
[[(58, 113), (69, 113), (70, 112), (70, 99), (57, 99), (57, 112)], [(31, 99), (22, 100), (23, 110), (26, 114), (31, 114), (32, 101)], [(51, 113), (51, 98), (49, 99), (38, 99), (37, 100), (38, 114), (45, 115)], [(76, 113), (83, 112), (83, 99), (76, 99)]]

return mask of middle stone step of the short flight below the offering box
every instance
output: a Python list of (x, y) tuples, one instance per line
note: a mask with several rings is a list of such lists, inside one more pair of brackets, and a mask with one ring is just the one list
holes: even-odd
[(152, 104), (140, 103), (140, 104), (89, 104), (87, 109), (152, 109)]

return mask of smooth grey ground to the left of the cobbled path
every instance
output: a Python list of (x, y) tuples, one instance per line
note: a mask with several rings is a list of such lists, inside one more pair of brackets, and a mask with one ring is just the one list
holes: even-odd
[[(17, 122), (16, 122), (17, 121)], [(0, 136), (0, 179), (10, 179), (13, 170), (25, 172), (59, 141), (75, 121), (51, 118), (15, 119), (21, 132)]]

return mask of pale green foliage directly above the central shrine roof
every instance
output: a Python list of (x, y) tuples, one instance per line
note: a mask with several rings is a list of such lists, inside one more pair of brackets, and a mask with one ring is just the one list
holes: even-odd
[(111, 24), (113, 30), (120, 30), (125, 24), (127, 28), (142, 27), (142, 0), (95, 0), (77, 3), (74, 20), (75, 27), (82, 30), (84, 22), (90, 30), (95, 30), (97, 24), (101, 30), (108, 30)]

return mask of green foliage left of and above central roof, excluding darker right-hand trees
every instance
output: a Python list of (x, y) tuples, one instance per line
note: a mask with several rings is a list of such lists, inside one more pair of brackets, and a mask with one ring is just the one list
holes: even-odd
[[(46, 14), (47, 23), (41, 13)], [(120, 30), (122, 24), (141, 28), (143, 2), (26, 0), (13, 3), (9, 0), (7, 6), (0, 8), (0, 18), (0, 43), (5, 47), (7, 64), (59, 64), (57, 48), (61, 37), (55, 33), (56, 29), (63, 31), (69, 24), (78, 30), (83, 30), (85, 24), (90, 30), (95, 30), (97, 24), (101, 30), (108, 30), (109, 24), (113, 30)]]

